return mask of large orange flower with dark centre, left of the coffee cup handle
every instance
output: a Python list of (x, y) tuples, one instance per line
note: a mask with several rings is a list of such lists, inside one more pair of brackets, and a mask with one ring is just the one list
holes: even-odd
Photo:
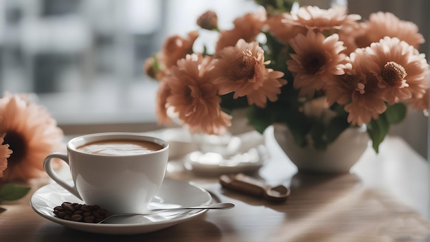
[(43, 159), (54, 151), (63, 151), (63, 131), (49, 113), (19, 96), (0, 99), (0, 133), (3, 144), (13, 151), (3, 181), (27, 181), (44, 175)]

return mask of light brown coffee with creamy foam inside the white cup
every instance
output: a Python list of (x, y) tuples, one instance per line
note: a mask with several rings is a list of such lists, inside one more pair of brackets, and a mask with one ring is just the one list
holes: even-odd
[(141, 140), (102, 140), (78, 146), (77, 151), (95, 155), (139, 155), (163, 148), (161, 145)]

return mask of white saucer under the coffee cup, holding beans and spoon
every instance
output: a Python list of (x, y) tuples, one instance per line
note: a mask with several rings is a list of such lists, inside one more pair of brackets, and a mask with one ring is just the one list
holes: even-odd
[[(146, 216), (114, 217), (106, 221), (107, 223), (83, 223), (67, 221), (55, 216), (54, 212), (52, 212), (54, 207), (60, 206), (64, 201), (84, 203), (54, 183), (47, 184), (36, 190), (30, 199), (30, 204), (35, 212), (46, 219), (75, 230), (100, 234), (144, 234), (188, 221), (206, 211), (180, 210), (158, 212)], [(207, 190), (186, 181), (166, 178), (148, 208), (201, 206), (210, 204), (211, 202), (212, 196)]]

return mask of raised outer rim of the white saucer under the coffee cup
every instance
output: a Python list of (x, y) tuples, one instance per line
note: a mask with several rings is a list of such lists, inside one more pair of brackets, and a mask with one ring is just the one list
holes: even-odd
[[(166, 184), (166, 182), (167, 183), (169, 183), (169, 182), (180, 183), (182, 186), (192, 186), (194, 188), (197, 188), (197, 190), (202, 192), (202, 194), (204, 193), (204, 195), (207, 196), (207, 201), (205, 201), (204, 203), (201, 203), (201, 204), (196, 204), (196, 205), (207, 205), (207, 204), (212, 203), (212, 201), (213, 201), (213, 198), (212, 198), (212, 195), (210, 195), (210, 192), (208, 192), (204, 188), (201, 188), (197, 184), (194, 184), (192, 181), (181, 181), (181, 180), (166, 177), (163, 181), (163, 184)], [(165, 186), (168, 186), (168, 185), (165, 185)], [(175, 217), (173, 219), (168, 219), (168, 220), (164, 220), (164, 221), (152, 221), (152, 222), (148, 222), (148, 223), (82, 223), (82, 222), (75, 222), (75, 221), (67, 221), (65, 219), (60, 219), (58, 217), (55, 217), (54, 214), (49, 214), (49, 215), (45, 214), (45, 213), (41, 212), (41, 209), (36, 208), (33, 199), (36, 197), (36, 195), (38, 195), (38, 192), (41, 192), (41, 190), (46, 190), (49, 187), (60, 188), (61, 190), (63, 190), (63, 192), (67, 192), (68, 194), (71, 195), (70, 192), (68, 192), (67, 190), (65, 190), (64, 188), (62, 188), (61, 186), (59, 186), (56, 183), (49, 183), (49, 184), (46, 184), (45, 186), (41, 186), (41, 188), (38, 188), (32, 194), (32, 197), (30, 198), (30, 206), (32, 207), (34, 212), (36, 212), (38, 215), (40, 215), (41, 217), (44, 217), (45, 219), (47, 219), (49, 221), (53, 221), (54, 223), (64, 225), (67, 228), (72, 228), (74, 230), (80, 230), (80, 231), (85, 231), (85, 232), (93, 232), (93, 233), (98, 233), (98, 234), (146, 234), (148, 232), (154, 232), (157, 230), (162, 230), (164, 228), (168, 228), (170, 226), (177, 225), (179, 223), (183, 223), (183, 222), (188, 221), (190, 219), (194, 219), (195, 217), (198, 217), (199, 215), (201, 215), (207, 211), (207, 209), (190, 210), (190, 211), (187, 211), (185, 213), (177, 214), (177, 217)], [(56, 191), (52, 191), (52, 192), (56, 192)], [(82, 201), (78, 198), (76, 198), (76, 199), (78, 201)], [(83, 201), (82, 201), (82, 203), (83, 203)], [(112, 228), (117, 228), (117, 229), (126, 228), (126, 230), (117, 231), (117, 230), (111, 230)], [(140, 230), (140, 229), (142, 229), (142, 230)], [(100, 231), (100, 230), (106, 230), (106, 231)]]

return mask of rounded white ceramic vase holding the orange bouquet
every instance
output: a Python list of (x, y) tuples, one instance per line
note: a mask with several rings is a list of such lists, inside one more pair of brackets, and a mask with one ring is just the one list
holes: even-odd
[(363, 128), (349, 128), (326, 150), (299, 147), (284, 124), (273, 125), (275, 140), (300, 173), (349, 173), (369, 144)]

